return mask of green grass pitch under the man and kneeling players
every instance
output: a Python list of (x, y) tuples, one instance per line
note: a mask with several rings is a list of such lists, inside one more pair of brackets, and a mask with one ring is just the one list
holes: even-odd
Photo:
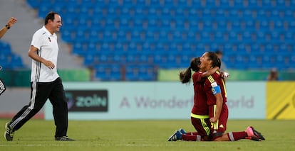
[(190, 121), (69, 121), (68, 135), (74, 142), (53, 139), (53, 121), (31, 120), (16, 131), (13, 142), (4, 140), (0, 119), (0, 150), (295, 150), (295, 121), (228, 121), (227, 131), (241, 131), (247, 125), (259, 130), (265, 141), (254, 142), (167, 142), (172, 133), (184, 128), (192, 131)]

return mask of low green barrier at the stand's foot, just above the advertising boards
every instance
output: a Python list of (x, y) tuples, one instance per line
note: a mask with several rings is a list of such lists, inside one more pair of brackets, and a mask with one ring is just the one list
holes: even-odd
[[(178, 74), (184, 69), (159, 69), (157, 72), (157, 81), (160, 82), (178, 82)], [(229, 70), (229, 79), (227, 81), (264, 81), (269, 71), (254, 70)], [(6, 86), (29, 87), (30, 69), (1, 70), (0, 77)], [(58, 69), (58, 74), (63, 82), (89, 82), (95, 81), (90, 69)], [(279, 77), (282, 80), (295, 80), (294, 71), (281, 71)]]

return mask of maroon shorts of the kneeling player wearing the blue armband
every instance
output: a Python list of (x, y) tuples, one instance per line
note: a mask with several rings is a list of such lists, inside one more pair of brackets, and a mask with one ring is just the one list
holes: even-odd
[[(209, 117), (214, 117), (216, 112), (216, 105), (209, 106)], [(222, 105), (222, 111), (219, 116), (217, 123), (211, 123), (212, 136), (214, 138), (219, 138), (227, 130), (227, 118), (229, 117), (229, 110), (227, 104)]]

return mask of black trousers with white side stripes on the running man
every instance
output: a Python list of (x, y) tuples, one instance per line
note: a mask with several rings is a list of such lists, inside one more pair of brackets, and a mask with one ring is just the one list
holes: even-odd
[(68, 130), (68, 106), (63, 84), (59, 77), (53, 82), (31, 82), (31, 101), (29, 105), (21, 108), (21, 111), (12, 118), (10, 122), (11, 128), (19, 130), (24, 123), (41, 110), (47, 99), (53, 106), (53, 117), (56, 125), (55, 137), (66, 136)]

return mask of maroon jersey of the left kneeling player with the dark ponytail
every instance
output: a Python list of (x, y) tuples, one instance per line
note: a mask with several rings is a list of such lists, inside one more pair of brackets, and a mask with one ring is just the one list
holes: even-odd
[(194, 106), (192, 113), (200, 116), (209, 115), (207, 106), (207, 96), (204, 91), (205, 78), (202, 78), (202, 72), (195, 72), (192, 74), (192, 82), (194, 82)]

